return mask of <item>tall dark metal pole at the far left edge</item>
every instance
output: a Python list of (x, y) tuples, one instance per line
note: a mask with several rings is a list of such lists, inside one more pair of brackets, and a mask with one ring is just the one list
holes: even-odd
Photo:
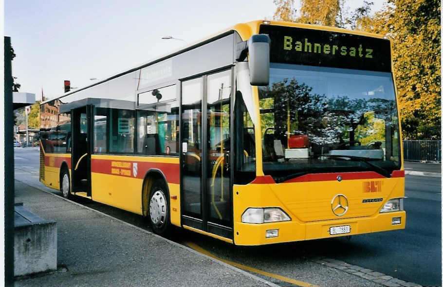
[(11, 38), (4, 37), (4, 212), (5, 286), (14, 286), (14, 115)]

